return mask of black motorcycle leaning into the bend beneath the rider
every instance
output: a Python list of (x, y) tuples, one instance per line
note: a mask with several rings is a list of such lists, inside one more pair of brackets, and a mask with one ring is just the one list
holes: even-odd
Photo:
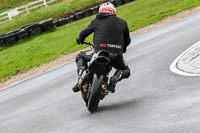
[[(94, 49), (93, 44), (88, 42), (84, 42), (84, 44)], [(91, 61), (88, 63), (87, 70), (82, 74), (84, 81), (79, 81), (79, 88), (86, 107), (91, 113), (98, 109), (100, 100), (103, 100), (109, 94), (108, 75), (111, 69), (109, 53), (101, 50), (94, 53)]]

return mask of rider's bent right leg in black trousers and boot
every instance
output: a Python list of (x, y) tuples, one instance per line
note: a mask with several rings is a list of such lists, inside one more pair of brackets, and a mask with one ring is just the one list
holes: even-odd
[(131, 73), (130, 68), (126, 64), (122, 55), (118, 55), (116, 58), (111, 59), (111, 64), (117, 70), (114, 73), (114, 75), (110, 78), (109, 90), (111, 92), (115, 92), (115, 86), (117, 82), (121, 81), (122, 79), (128, 78)]

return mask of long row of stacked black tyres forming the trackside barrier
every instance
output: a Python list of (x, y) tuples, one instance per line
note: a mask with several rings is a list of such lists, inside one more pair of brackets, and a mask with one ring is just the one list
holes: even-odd
[[(121, 6), (133, 0), (106, 0), (106, 2), (110, 2), (115, 6)], [(52, 18), (42, 20), (38, 23), (32, 23), (25, 26), (22, 26), (20, 29), (16, 31), (12, 31), (0, 36), (0, 47), (5, 47), (6, 44), (12, 45), (17, 43), (18, 40), (27, 39), (30, 36), (41, 34), (42, 32), (50, 31), (55, 27), (63, 26), (72, 21), (80, 20), (84, 17), (91, 16), (93, 14), (97, 14), (99, 12), (99, 4), (85, 9), (83, 11), (76, 11), (72, 14), (65, 15), (63, 18), (59, 20), (53, 21)]]

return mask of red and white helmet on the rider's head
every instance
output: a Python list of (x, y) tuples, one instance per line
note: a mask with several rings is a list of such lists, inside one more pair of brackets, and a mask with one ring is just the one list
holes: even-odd
[(112, 3), (103, 3), (100, 5), (100, 8), (99, 8), (99, 13), (101, 12), (110, 12), (110, 13), (113, 13), (116, 15), (116, 9), (115, 9), (115, 6), (112, 4)]

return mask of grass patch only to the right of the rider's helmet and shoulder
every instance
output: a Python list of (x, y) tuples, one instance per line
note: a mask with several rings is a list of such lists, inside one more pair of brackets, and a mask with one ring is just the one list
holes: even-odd
[(130, 31), (134, 31), (198, 5), (199, 0), (136, 0), (119, 7), (118, 16), (128, 22)]

